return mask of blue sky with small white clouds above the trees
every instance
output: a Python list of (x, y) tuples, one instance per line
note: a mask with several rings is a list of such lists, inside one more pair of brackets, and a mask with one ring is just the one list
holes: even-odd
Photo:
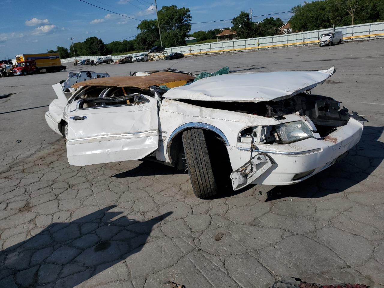
[[(143, 19), (155, 19), (152, 0), (86, 0), (94, 5)], [(253, 15), (290, 10), (302, 0), (158, 0), (157, 8), (174, 4), (191, 10), (192, 23), (231, 19), (240, 11), (252, 8)], [(104, 43), (122, 40), (137, 34), (137, 20), (122, 17), (93, 7), (79, 0), (0, 0), (3, 13), (0, 22), (0, 59), (7, 55), (44, 53), (55, 45), (68, 48), (70, 37), (74, 42), (90, 36), (101, 38)], [(285, 20), (290, 13), (271, 15)], [(265, 17), (255, 17), (260, 21)], [(285, 20), (286, 22), (286, 20)], [(191, 32), (210, 28), (230, 27), (230, 21), (192, 25)], [(133, 39), (133, 38), (131, 38)]]

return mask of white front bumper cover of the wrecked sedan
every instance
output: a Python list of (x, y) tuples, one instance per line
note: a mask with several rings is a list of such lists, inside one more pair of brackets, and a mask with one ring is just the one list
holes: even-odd
[[(362, 122), (350, 118), (348, 124), (323, 139), (308, 138), (291, 144), (256, 144), (253, 156), (263, 152), (275, 163), (252, 184), (291, 185), (328, 168), (348, 154), (362, 135)], [(247, 147), (228, 146), (232, 168), (238, 169), (250, 159)], [(305, 173), (309, 173), (305, 175)], [(304, 177), (300, 177), (305, 175)], [(295, 179), (295, 180), (293, 180)]]

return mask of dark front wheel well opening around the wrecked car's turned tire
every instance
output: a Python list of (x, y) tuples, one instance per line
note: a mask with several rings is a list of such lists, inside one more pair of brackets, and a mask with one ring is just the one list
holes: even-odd
[[(172, 161), (172, 165), (176, 167), (176, 169), (185, 169), (185, 156), (184, 156), (184, 147), (182, 142), (183, 132), (193, 128), (201, 128), (201, 127), (189, 127), (179, 131), (173, 138), (170, 144), (170, 148), (168, 151), (168, 156)], [(222, 157), (223, 161), (228, 161), (230, 164), (227, 144), (225, 142), (226, 139), (223, 139), (219, 134), (215, 131), (204, 129), (204, 136), (207, 142), (207, 148), (209, 150), (210, 157), (216, 158), (218, 154)]]

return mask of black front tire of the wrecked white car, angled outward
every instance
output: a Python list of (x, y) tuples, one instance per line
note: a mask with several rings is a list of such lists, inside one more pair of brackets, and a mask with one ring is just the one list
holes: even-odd
[(204, 131), (197, 128), (184, 131), (182, 140), (194, 194), (197, 198), (206, 198), (217, 194), (217, 183), (212, 170)]

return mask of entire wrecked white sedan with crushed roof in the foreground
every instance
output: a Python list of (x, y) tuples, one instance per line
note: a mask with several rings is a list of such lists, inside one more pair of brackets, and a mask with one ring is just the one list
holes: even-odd
[(177, 169), (186, 164), (199, 198), (227, 180), (233, 190), (290, 185), (343, 159), (361, 137), (365, 119), (310, 94), (334, 71), (93, 79), (73, 86), (60, 120), (51, 121), (51, 106), (46, 119), (63, 135), (72, 165), (145, 157)]

